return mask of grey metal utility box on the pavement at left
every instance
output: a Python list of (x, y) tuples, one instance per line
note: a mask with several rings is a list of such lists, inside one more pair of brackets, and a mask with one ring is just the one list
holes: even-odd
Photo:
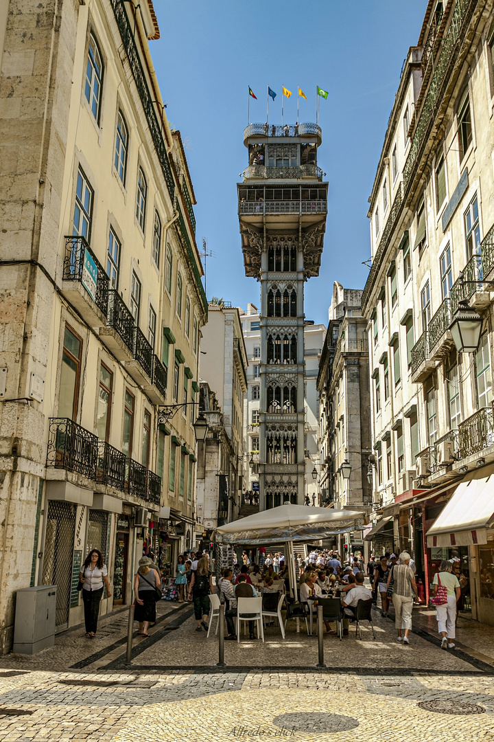
[(35, 654), (55, 644), (56, 585), (37, 585), (16, 593), (16, 654)]

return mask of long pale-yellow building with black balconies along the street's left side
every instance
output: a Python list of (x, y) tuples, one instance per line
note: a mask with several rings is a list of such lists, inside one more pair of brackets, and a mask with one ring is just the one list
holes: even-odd
[[(57, 586), (57, 631), (99, 548), (129, 603), (142, 547), (193, 542), (199, 333), (193, 187), (150, 58), (151, 0), (0, 16), (0, 642), (15, 591)], [(29, 36), (30, 45), (24, 45)], [(165, 405), (183, 405), (164, 414)], [(173, 414), (176, 413), (176, 414)]]

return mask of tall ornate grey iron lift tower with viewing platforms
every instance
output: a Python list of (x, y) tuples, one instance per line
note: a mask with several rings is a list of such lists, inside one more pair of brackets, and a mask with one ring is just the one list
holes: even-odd
[(250, 124), (238, 183), (247, 276), (261, 281), (259, 506), (304, 502), (304, 281), (321, 265), (327, 183), (313, 123)]

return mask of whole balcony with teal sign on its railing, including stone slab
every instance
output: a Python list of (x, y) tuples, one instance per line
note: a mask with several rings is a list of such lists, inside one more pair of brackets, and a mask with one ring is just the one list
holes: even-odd
[(90, 327), (106, 324), (109, 279), (84, 237), (65, 237), (62, 292)]

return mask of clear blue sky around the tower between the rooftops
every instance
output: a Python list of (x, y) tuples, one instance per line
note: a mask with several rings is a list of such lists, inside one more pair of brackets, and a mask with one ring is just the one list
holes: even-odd
[(363, 288), (370, 257), (367, 198), (373, 184), (401, 65), (417, 43), (426, 0), (180, 0), (154, 1), (161, 39), (151, 42), (170, 125), (181, 131), (196, 198), (197, 242), (206, 237), (207, 297), (258, 306), (259, 284), (246, 278), (236, 202), (238, 173), (247, 165), (243, 131), (266, 119), (267, 85), (278, 93), (270, 122), (316, 120), (321, 99), (323, 142), (318, 165), (329, 183), (328, 217), (319, 278), (306, 283), (308, 319), (327, 323), (338, 280)]

